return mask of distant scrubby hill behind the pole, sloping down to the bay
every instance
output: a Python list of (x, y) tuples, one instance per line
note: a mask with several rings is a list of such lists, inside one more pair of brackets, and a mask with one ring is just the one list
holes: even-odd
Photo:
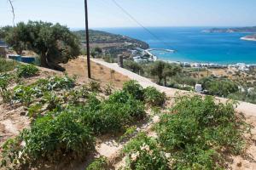
[[(81, 42), (85, 41), (85, 31), (73, 31), (81, 40)], [(131, 37), (125, 37), (121, 35), (116, 35), (112, 33), (108, 33), (105, 31), (94, 31), (90, 30), (90, 43), (98, 43), (98, 44), (113, 44), (113, 43), (131, 43), (132, 47), (134, 48), (143, 48), (147, 49), (149, 48), (148, 43), (131, 38)]]

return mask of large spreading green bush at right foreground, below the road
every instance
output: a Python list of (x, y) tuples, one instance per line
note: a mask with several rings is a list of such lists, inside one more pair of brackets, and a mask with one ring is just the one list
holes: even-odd
[(157, 132), (160, 144), (172, 153), (174, 169), (218, 169), (224, 166), (224, 153), (241, 152), (247, 126), (233, 104), (184, 96), (161, 116)]

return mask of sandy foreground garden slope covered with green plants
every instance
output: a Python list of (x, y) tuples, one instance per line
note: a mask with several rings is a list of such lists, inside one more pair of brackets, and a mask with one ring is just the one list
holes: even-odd
[[(83, 57), (63, 65), (70, 77), (34, 72), (32, 65), (3, 73), (3, 169), (255, 169), (255, 116), (236, 114), (235, 105), (211, 97), (172, 95), (172, 88), (92, 61), (94, 79), (102, 83), (86, 78)], [(125, 82), (135, 76), (139, 83)]]

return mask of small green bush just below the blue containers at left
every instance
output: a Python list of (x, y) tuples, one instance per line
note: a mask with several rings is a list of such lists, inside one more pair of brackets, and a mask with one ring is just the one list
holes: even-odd
[(19, 65), (17, 68), (18, 77), (33, 77), (38, 75), (39, 70), (35, 65)]

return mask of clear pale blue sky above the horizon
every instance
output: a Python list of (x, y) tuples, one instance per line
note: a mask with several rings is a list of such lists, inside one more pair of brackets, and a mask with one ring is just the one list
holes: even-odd
[[(13, 0), (16, 22), (44, 20), (84, 27), (84, 0)], [(136, 27), (112, 0), (88, 0), (90, 27)], [(256, 26), (256, 0), (116, 0), (143, 26)], [(0, 0), (0, 26), (12, 24)]]

